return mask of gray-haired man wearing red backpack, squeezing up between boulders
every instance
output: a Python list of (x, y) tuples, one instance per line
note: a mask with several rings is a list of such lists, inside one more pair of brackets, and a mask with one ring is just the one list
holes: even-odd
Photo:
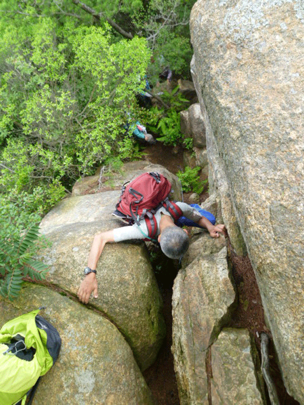
[[(153, 179), (155, 184), (160, 184), (159, 189), (156, 190), (158, 194), (154, 193)], [(94, 297), (97, 298), (96, 267), (106, 243), (131, 239), (156, 239), (167, 257), (179, 259), (187, 252), (189, 247), (187, 232), (174, 223), (180, 217), (186, 217), (193, 221), (196, 226), (206, 228), (212, 238), (218, 238), (220, 233), (225, 233), (225, 225), (213, 225), (189, 204), (169, 201), (171, 184), (167, 181), (169, 183), (169, 187), (167, 187), (167, 183), (162, 183), (164, 179), (167, 180), (158, 173), (143, 173), (123, 188), (113, 214), (119, 218), (123, 217), (123, 219), (131, 218), (135, 223), (95, 235), (88, 258), (88, 265), (85, 268), (86, 276), (81, 282), (77, 293), (80, 301), (85, 304), (88, 303), (92, 292)], [(165, 187), (167, 187), (166, 190)], [(164, 196), (159, 197), (159, 194), (164, 190), (165, 198), (163, 198)], [(146, 196), (145, 192), (150, 193), (149, 196)], [(159, 198), (162, 200), (159, 200)], [(153, 201), (156, 204), (154, 204), (154, 210), (145, 208), (146, 205), (148, 207), (148, 203)], [(141, 202), (144, 204), (140, 205)], [(134, 212), (130, 214), (129, 210), (133, 210), (133, 208)], [(125, 210), (126, 212), (123, 212)]]

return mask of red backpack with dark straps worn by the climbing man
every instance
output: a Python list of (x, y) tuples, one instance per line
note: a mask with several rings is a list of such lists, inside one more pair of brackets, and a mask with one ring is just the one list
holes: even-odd
[[(129, 184), (128, 184), (129, 183)], [(145, 219), (148, 227), (148, 239), (157, 232), (154, 214), (161, 205), (177, 221), (183, 212), (178, 205), (169, 200), (171, 183), (159, 173), (143, 173), (131, 183), (123, 184), (121, 195), (113, 215), (132, 225)]]

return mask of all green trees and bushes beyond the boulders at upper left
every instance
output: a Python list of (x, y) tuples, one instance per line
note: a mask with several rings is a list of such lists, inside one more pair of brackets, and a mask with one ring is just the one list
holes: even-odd
[(109, 158), (137, 157), (128, 111), (165, 143), (183, 142), (173, 110), (185, 100), (164, 94), (171, 110), (163, 113), (136, 108), (135, 94), (149, 70), (189, 70), (192, 3), (0, 0), (0, 194), (8, 202), (42, 216)]

